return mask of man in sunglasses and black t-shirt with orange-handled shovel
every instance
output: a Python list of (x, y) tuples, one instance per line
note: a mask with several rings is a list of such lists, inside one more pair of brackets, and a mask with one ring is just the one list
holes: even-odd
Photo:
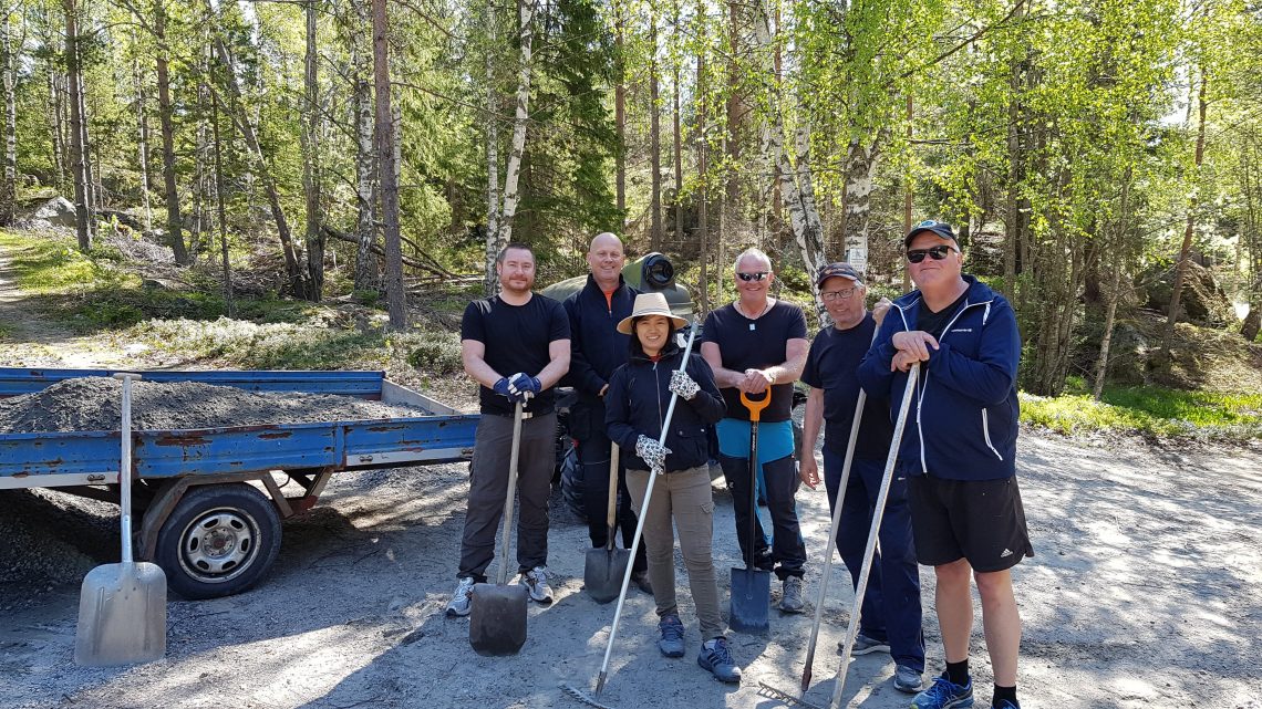
[[(771, 259), (762, 251), (748, 249), (736, 257), (738, 298), (705, 318), (702, 357), (714, 370), (714, 380), (727, 404), (727, 418), (716, 426), (718, 460), (732, 489), (741, 558), (748, 559), (752, 544), (755, 566), (775, 571), (782, 584), (780, 611), (801, 613), (806, 545), (798, 525), (794, 497), (801, 481), (794, 466), (790, 411), (793, 382), (801, 375), (809, 341), (801, 308), (769, 296), (774, 280)], [(771, 397), (758, 424), (756, 462), (762, 466), (766, 483), (772, 529), (770, 545), (757, 516), (752, 520), (753, 539), (748, 539), (748, 496), (756, 491), (750, 474), (750, 410), (741, 404), (742, 391), (753, 399)]]

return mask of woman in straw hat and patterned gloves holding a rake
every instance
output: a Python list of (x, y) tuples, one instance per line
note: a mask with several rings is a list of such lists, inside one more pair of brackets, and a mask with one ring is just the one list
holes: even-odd
[[(611, 440), (623, 450), (635, 450), (635, 455), (627, 455), (627, 488), (636, 513), (644, 516), (649, 579), (661, 631), (658, 648), (666, 657), (684, 655), (684, 626), (675, 603), (674, 522), (700, 621), (703, 643), (697, 664), (721, 681), (740, 683), (741, 670), (732, 660), (719, 614), (711, 553), (714, 501), (709, 428), (723, 418), (726, 406), (714, 373), (700, 354), (689, 354), (687, 367), (679, 371), (684, 353), (675, 342), (675, 331), (685, 324), (670, 313), (660, 293), (636, 296), (631, 317), (618, 323), (618, 332), (632, 336), (631, 356), (610, 380), (604, 423)], [(679, 395), (679, 402), (663, 447), (658, 440), (673, 394)], [(659, 474), (649, 510), (644, 510), (650, 468)]]

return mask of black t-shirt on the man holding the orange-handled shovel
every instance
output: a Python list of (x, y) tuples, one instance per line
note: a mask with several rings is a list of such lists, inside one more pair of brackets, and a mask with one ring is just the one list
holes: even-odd
[[(806, 339), (806, 315), (801, 308), (776, 300), (761, 318), (751, 320), (728, 305), (712, 310), (705, 318), (702, 342), (718, 344), (723, 356), (723, 368), (743, 372), (751, 367), (765, 370), (785, 361), (785, 346), (790, 339)], [(719, 390), (727, 404), (729, 419), (750, 420), (750, 410), (741, 404), (741, 390)], [(793, 382), (771, 386), (771, 405), (762, 410), (764, 421), (786, 421), (793, 409)]]

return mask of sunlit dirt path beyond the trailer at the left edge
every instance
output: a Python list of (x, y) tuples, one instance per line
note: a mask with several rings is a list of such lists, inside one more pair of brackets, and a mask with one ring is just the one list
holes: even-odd
[(92, 368), (131, 360), (101, 337), (76, 336), (43, 317), (18, 288), (13, 256), (11, 249), (0, 247), (0, 366)]

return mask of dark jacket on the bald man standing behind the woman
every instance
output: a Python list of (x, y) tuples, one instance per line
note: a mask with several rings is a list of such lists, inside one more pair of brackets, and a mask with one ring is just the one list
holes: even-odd
[(635, 296), (640, 291), (626, 284), (618, 276), (618, 288), (610, 302), (596, 285), (596, 279), (587, 276), (587, 284), (565, 299), (565, 314), (569, 315), (569, 372), (567, 382), (587, 399), (596, 399), (601, 389), (613, 376), (613, 370), (627, 361), (630, 336), (616, 328), (622, 318), (631, 315)]

